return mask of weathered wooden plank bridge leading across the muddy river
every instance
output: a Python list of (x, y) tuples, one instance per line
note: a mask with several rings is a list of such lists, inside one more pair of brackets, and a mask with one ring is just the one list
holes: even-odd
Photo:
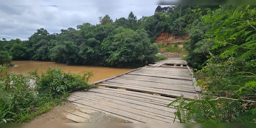
[[(104, 87), (73, 92), (68, 100), (80, 108), (76, 111), (80, 114), (89, 109), (134, 123), (173, 123), (176, 109), (167, 104), (181, 95), (199, 97), (201, 88), (195, 86), (191, 73), (184, 60), (163, 60), (93, 82)], [(76, 113), (69, 115), (83, 122), (85, 118)]]

